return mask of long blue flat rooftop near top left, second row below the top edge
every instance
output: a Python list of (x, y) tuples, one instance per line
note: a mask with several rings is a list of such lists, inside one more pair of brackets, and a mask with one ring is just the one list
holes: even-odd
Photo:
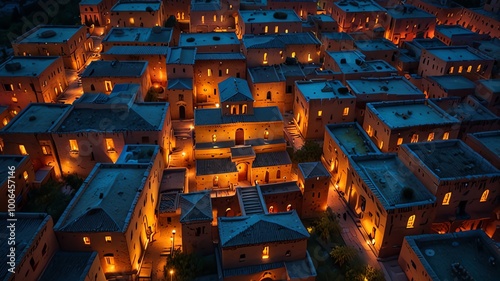
[(172, 29), (155, 26), (148, 27), (113, 27), (102, 40), (106, 42), (155, 42), (168, 44), (172, 40)]

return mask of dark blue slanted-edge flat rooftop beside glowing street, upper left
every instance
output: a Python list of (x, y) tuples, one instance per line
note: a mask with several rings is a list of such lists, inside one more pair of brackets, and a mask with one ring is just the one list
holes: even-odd
[(86, 77), (141, 77), (148, 66), (147, 61), (92, 61), (82, 78)]

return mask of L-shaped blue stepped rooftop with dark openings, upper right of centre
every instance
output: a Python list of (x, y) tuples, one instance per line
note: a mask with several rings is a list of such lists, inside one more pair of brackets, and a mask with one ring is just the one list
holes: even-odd
[(384, 60), (365, 60), (366, 56), (360, 51), (326, 52), (324, 68), (338, 72), (338, 80), (345, 83), (347, 80), (363, 77), (389, 77), (397, 75), (398, 70)]

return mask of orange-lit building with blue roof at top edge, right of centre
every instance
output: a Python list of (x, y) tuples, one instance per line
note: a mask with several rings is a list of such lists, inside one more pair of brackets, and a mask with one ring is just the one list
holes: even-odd
[(339, 24), (339, 32), (374, 30), (382, 26), (381, 17), (387, 12), (372, 0), (339, 1), (327, 8), (327, 14)]

